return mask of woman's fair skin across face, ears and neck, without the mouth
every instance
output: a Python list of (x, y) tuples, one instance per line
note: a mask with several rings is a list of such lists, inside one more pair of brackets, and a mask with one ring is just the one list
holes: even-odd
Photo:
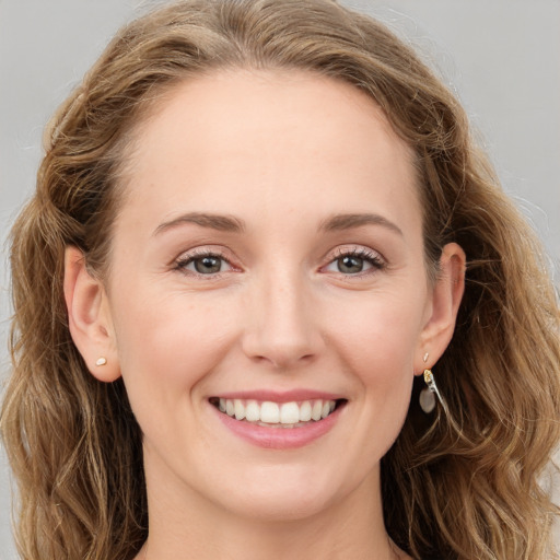
[[(413, 376), (452, 337), (465, 264), (450, 244), (428, 279), (411, 150), (363, 93), (293, 71), (189, 80), (135, 139), (108, 278), (70, 247), (65, 291), (92, 374), (124, 377), (143, 431), (150, 536), (138, 558), (396, 558), (380, 459)], [(364, 212), (375, 220), (325, 230)], [(221, 271), (197, 275), (188, 259), (209, 252)], [(357, 273), (340, 269), (352, 252), (365, 255)], [(209, 404), (294, 388), (347, 404), (293, 450), (241, 440)]]

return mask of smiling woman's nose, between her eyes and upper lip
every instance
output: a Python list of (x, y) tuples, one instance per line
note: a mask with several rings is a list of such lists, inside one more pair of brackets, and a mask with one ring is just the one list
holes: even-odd
[(267, 275), (252, 290), (243, 351), (278, 370), (313, 360), (324, 346), (317, 310), (296, 275)]

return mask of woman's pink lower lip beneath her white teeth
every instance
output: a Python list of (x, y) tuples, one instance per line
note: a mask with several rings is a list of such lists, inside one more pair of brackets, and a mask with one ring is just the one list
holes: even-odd
[(210, 406), (215, 410), (223, 424), (235, 435), (253, 445), (267, 450), (292, 450), (308, 445), (334, 428), (341, 410), (341, 407), (337, 408), (327, 418), (310, 422), (300, 428), (266, 428), (243, 420), (235, 420), (235, 418), (220, 412), (213, 405)]

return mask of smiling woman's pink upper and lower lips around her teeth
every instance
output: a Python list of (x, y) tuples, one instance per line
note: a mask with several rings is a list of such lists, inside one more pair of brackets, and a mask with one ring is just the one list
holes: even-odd
[[(303, 394), (320, 396), (306, 396), (303, 398)], [(234, 397), (233, 395), (237, 396)], [(327, 397), (325, 393), (316, 392), (284, 393), (282, 394), (282, 400), (278, 400), (278, 394), (275, 395), (275, 397), (271, 397), (270, 392), (244, 392), (237, 394), (229, 393), (228, 396), (221, 395), (221, 397), (246, 398), (255, 400), (261, 400), (261, 397), (266, 397), (262, 398), (262, 400), (273, 400), (276, 402), (291, 402), (293, 400), (298, 401), (313, 398), (336, 400), (334, 398)], [(300, 428), (267, 428), (264, 425), (245, 422), (243, 420), (236, 420), (235, 418), (220, 412), (220, 410), (218, 410), (218, 408), (215, 408), (213, 405), (209, 404), (209, 406), (213, 410), (213, 413), (217, 415), (218, 419), (222, 422), (222, 424), (228, 428), (228, 430), (230, 430), (235, 436), (266, 450), (293, 450), (313, 443), (332, 430), (340, 417), (341, 411), (345, 408), (345, 406), (340, 406), (329, 416), (327, 416), (327, 418), (316, 422), (310, 422), (308, 424), (302, 425)]]

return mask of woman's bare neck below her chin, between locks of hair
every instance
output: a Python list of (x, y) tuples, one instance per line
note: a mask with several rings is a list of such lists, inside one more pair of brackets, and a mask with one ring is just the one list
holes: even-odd
[[(395, 560), (385, 532), (378, 472), (345, 499), (290, 520), (228, 511), (189, 488), (150, 480), (150, 536), (137, 560)], [(153, 483), (150, 483), (153, 482)]]

